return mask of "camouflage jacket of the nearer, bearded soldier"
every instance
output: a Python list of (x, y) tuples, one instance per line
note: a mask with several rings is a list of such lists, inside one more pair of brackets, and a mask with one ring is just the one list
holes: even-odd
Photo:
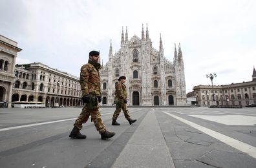
[(92, 96), (101, 96), (100, 92), (100, 64), (89, 59), (88, 63), (83, 65), (80, 70), (80, 85), (83, 96), (91, 94)]

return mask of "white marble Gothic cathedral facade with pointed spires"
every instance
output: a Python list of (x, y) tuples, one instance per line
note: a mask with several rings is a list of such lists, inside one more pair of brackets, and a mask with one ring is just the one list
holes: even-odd
[(175, 45), (174, 61), (164, 56), (162, 37), (159, 50), (152, 47), (149, 30), (142, 26), (141, 38), (128, 38), (122, 30), (121, 48), (112, 53), (109, 61), (100, 70), (102, 104), (112, 105), (115, 85), (120, 76), (126, 76), (128, 105), (186, 105), (186, 81), (182, 50)]

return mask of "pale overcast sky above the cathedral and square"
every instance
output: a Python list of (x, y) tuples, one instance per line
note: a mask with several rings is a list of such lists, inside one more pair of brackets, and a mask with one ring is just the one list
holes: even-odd
[(256, 66), (256, 1), (249, 0), (0, 0), (0, 34), (22, 49), (16, 63), (41, 62), (80, 76), (91, 50), (107, 63), (120, 49), (122, 27), (129, 39), (147, 24), (153, 47), (173, 61), (180, 43), (186, 92), (211, 85), (251, 81)]

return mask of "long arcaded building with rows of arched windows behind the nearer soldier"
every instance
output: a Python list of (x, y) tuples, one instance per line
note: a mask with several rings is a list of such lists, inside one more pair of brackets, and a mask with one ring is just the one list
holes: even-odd
[(43, 102), (46, 107), (82, 105), (80, 79), (42, 63), (15, 66), (12, 102)]

